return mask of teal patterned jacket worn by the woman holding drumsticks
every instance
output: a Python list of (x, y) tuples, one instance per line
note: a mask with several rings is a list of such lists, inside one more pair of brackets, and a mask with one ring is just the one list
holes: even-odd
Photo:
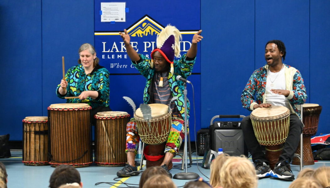
[(93, 71), (86, 75), (82, 65), (71, 67), (65, 74), (68, 81), (67, 93), (61, 95), (58, 92), (60, 85), (56, 88), (56, 94), (60, 98), (66, 96), (79, 96), (83, 91), (97, 91), (96, 99), (88, 97), (85, 100), (79, 98), (67, 99), (66, 103), (87, 103), (92, 108), (98, 106), (109, 106), (109, 71), (98, 65)]

